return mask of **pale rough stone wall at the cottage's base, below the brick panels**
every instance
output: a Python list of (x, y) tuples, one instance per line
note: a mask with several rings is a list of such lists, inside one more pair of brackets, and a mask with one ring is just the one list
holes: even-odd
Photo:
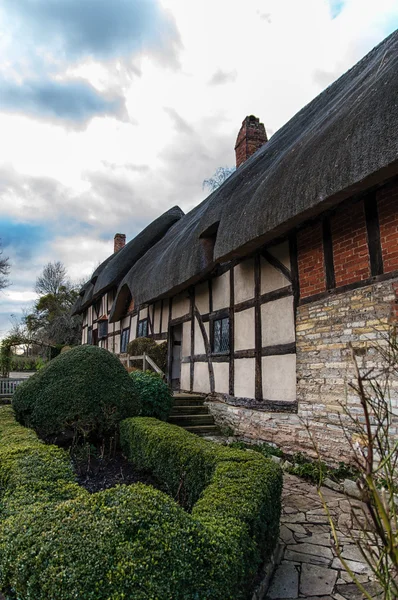
[[(383, 343), (395, 301), (397, 280), (374, 283), (297, 309), (297, 414), (263, 412), (231, 406), (225, 397), (210, 401), (217, 423), (246, 440), (272, 442), (286, 452), (314, 455), (306, 426), (323, 456), (339, 462), (349, 456), (340, 420), (348, 425), (343, 406), (361, 415), (359, 400), (349, 387), (354, 372), (351, 342), (365, 369), (380, 367), (375, 343)], [(398, 434), (398, 383), (395, 390)], [(223, 401), (224, 400), (224, 401)]]

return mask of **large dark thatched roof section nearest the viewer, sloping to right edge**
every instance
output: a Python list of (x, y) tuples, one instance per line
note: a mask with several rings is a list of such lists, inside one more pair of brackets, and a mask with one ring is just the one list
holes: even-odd
[[(275, 133), (128, 271), (136, 305), (398, 172), (398, 32)], [(206, 231), (217, 228), (212, 259)]]

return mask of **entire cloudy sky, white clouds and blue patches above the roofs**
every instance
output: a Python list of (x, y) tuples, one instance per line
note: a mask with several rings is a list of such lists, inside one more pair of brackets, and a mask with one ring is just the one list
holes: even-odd
[(0, 337), (43, 266), (73, 279), (272, 135), (398, 26), (397, 0), (0, 0)]

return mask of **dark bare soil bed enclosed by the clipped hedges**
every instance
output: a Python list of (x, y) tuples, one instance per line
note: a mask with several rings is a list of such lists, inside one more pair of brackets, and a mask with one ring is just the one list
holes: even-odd
[[(72, 455), (72, 461), (78, 483), (91, 493), (112, 488), (118, 484), (130, 485), (144, 483), (161, 489), (153, 476), (144, 471), (138, 471), (120, 451), (111, 457), (97, 454), (94, 449), (90, 455)], [(164, 490), (163, 490), (164, 491)]]

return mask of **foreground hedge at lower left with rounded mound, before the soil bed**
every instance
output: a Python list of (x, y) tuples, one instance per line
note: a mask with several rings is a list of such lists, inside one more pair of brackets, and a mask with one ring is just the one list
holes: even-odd
[(212, 598), (204, 528), (142, 484), (90, 495), (0, 408), (0, 589), (19, 600)]

